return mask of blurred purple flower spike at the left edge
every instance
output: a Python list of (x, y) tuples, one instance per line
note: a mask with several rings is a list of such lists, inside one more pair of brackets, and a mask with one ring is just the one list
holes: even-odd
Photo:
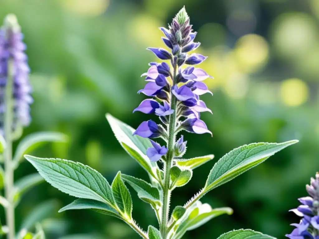
[[(0, 29), (0, 114), (3, 119), (5, 111), (5, 87), (12, 79), (12, 130), (17, 126), (27, 126), (31, 121), (29, 104), (33, 102), (29, 83), (30, 68), (27, 56), (24, 53), (26, 45), (23, 43), (23, 34), (14, 15), (8, 15), (4, 27)], [(10, 68), (10, 69), (9, 69)], [(0, 122), (0, 131), (3, 134), (3, 120)]]

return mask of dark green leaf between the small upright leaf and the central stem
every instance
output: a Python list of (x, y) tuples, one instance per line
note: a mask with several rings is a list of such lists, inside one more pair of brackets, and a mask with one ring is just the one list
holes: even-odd
[(159, 190), (157, 188), (142, 179), (132, 177), (130, 175), (122, 174), (122, 179), (134, 188), (139, 196), (141, 195), (144, 198), (147, 197), (148, 199), (158, 201), (160, 203)]

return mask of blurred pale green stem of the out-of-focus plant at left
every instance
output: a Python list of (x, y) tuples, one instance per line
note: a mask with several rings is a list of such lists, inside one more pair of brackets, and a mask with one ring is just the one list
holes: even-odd
[(8, 206), (6, 207), (6, 221), (9, 228), (8, 239), (14, 239), (15, 228), (14, 228), (14, 202), (13, 202), (13, 177), (14, 169), (12, 165), (12, 60), (8, 62), (8, 79), (5, 87), (4, 96), (4, 139), (6, 141), (6, 148), (4, 149), (4, 166), (5, 166), (5, 197), (8, 201)]

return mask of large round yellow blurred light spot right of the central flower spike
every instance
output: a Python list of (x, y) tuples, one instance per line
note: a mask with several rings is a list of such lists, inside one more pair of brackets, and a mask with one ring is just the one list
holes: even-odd
[(241, 37), (235, 46), (236, 59), (244, 73), (255, 73), (268, 62), (269, 47), (260, 35), (248, 34)]

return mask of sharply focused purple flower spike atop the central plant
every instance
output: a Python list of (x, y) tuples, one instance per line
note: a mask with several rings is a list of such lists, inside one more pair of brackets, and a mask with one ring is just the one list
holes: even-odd
[[(145, 138), (161, 137), (168, 141), (169, 131), (174, 130), (174, 135), (180, 130), (191, 133), (204, 134), (211, 132), (207, 129), (203, 120), (200, 120), (200, 112), (211, 112), (199, 99), (200, 95), (211, 93), (202, 81), (209, 76), (203, 69), (195, 68), (207, 57), (201, 54), (189, 52), (195, 50), (200, 43), (194, 42), (196, 32), (193, 32), (192, 25), (189, 25), (189, 17), (182, 8), (173, 19), (169, 29), (159, 28), (165, 35), (162, 37), (165, 45), (170, 49), (147, 48), (159, 59), (166, 62), (151, 62), (150, 68), (142, 76), (147, 82), (144, 89), (138, 93), (144, 93), (153, 99), (145, 99), (133, 111), (140, 111), (146, 114), (158, 115), (162, 124), (156, 124), (152, 120), (142, 122), (134, 134)], [(188, 66), (185, 66), (188, 65)], [(173, 68), (173, 69), (171, 69)], [(211, 77), (212, 78), (212, 77)], [(172, 119), (174, 118), (174, 119)], [(169, 122), (174, 120), (174, 129), (169, 128)], [(174, 137), (175, 138), (175, 137)], [(147, 156), (151, 161), (158, 161), (165, 156), (167, 148), (151, 141), (154, 148), (147, 150)], [(168, 143), (168, 142), (167, 142)], [(183, 136), (174, 144), (175, 156), (182, 156), (186, 150), (186, 141)]]

